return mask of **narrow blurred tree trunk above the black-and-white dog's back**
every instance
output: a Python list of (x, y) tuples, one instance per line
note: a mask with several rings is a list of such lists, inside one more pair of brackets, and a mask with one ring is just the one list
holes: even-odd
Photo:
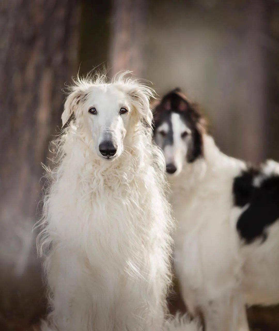
[(266, 157), (266, 66), (262, 38), (265, 25), (265, 1), (250, 0), (245, 36), (246, 76), (242, 81), (245, 112), (239, 114), (239, 123), (242, 125), (241, 131), (245, 132), (244, 139), (241, 139), (242, 157), (253, 163), (262, 162)]

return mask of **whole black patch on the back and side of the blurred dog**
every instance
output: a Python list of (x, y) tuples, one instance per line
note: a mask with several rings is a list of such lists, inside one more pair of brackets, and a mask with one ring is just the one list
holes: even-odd
[(267, 226), (279, 218), (279, 175), (264, 178), (256, 187), (253, 180), (257, 175), (261, 175), (257, 170), (244, 171), (233, 184), (235, 204), (239, 207), (249, 204), (236, 224), (240, 237), (247, 244), (260, 237), (264, 241)]

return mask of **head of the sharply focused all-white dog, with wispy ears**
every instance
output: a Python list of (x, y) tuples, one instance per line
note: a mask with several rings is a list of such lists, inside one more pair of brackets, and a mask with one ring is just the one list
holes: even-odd
[(78, 79), (62, 114), (63, 125), (74, 114), (77, 126), (92, 136), (97, 155), (105, 160), (121, 155), (137, 125), (151, 128), (149, 97), (153, 91), (123, 77), (119, 75), (112, 83), (105, 83), (103, 77)]

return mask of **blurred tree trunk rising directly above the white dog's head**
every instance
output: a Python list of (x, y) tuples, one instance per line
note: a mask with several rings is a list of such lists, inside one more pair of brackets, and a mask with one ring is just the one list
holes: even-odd
[(141, 77), (146, 40), (146, 0), (114, 0), (111, 38), (111, 73), (131, 70)]

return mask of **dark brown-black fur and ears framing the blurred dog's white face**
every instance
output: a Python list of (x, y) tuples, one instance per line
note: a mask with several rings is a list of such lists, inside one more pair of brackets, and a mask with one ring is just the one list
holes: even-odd
[(167, 122), (169, 125), (163, 148), (173, 144), (172, 113), (178, 113), (181, 120), (191, 130), (192, 140), (188, 146), (187, 161), (194, 162), (203, 155), (201, 114), (189, 103), (179, 88), (166, 94), (154, 111), (154, 135), (162, 123)]

